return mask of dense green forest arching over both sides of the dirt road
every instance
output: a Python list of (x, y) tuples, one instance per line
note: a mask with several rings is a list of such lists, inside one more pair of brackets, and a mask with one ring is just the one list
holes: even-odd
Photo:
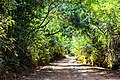
[(0, 0), (0, 76), (66, 54), (120, 69), (120, 0)]

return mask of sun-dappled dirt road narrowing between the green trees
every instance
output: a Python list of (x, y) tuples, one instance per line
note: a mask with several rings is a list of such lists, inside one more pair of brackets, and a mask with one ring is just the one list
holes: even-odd
[(101, 67), (79, 64), (76, 57), (39, 66), (34, 72), (21, 75), (16, 80), (120, 80), (119, 71), (108, 71)]

